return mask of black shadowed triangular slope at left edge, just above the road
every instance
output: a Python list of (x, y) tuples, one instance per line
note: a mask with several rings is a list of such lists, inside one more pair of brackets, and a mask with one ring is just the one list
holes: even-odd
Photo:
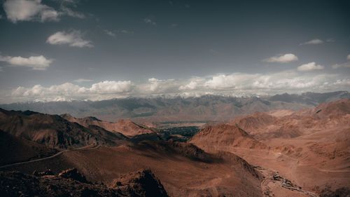
[(42, 144), (20, 139), (0, 130), (0, 165), (29, 161), (57, 153)]

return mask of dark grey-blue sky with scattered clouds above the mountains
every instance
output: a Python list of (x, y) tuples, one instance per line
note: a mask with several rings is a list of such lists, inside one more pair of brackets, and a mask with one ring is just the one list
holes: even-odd
[(0, 103), (350, 90), (350, 1), (0, 2)]

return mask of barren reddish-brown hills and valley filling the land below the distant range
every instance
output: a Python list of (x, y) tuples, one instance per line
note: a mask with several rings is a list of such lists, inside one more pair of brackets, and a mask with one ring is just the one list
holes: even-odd
[[(15, 184), (11, 179), (35, 179), (40, 192), (50, 193), (48, 184), (65, 192), (62, 177), (55, 176), (67, 169), (77, 169), (88, 182), (69, 178), (74, 185), (97, 196), (151, 196), (156, 191), (169, 196), (323, 197), (349, 192), (349, 99), (205, 122), (142, 124), (0, 112), (1, 140), (7, 143), (1, 143), (0, 166), (0, 177), (6, 176), (0, 191), (5, 193), (10, 192), (6, 184)], [(161, 184), (164, 191), (141, 183), (139, 191), (126, 175), (151, 176), (152, 185)]]

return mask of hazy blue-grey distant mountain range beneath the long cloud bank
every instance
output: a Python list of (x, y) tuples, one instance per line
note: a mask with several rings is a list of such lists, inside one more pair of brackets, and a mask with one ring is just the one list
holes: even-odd
[(350, 98), (347, 91), (332, 93), (284, 93), (264, 97), (123, 98), (102, 101), (22, 102), (0, 104), (7, 110), (31, 110), (45, 114), (71, 114), (77, 118), (95, 116), (104, 121), (130, 118), (137, 122), (223, 121), (256, 111), (275, 109), (298, 110), (315, 107), (322, 102)]

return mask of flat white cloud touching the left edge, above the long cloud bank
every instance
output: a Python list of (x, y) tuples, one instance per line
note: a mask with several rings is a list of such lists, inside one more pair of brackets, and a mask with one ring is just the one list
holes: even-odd
[(14, 67), (30, 67), (34, 70), (45, 70), (50, 67), (53, 60), (46, 59), (43, 55), (39, 55), (31, 57), (0, 56), (0, 61), (7, 62), (10, 66)]

